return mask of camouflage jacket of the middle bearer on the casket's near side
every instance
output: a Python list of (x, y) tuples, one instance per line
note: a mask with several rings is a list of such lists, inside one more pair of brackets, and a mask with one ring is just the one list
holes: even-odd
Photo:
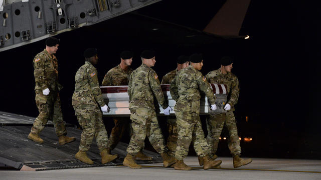
[(168, 107), (156, 72), (141, 64), (131, 74), (128, 83), (129, 108), (155, 109), (154, 96), (163, 108)]

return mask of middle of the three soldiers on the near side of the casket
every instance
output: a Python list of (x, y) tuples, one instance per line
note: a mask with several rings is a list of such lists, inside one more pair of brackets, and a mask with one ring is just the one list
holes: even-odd
[(130, 138), (123, 164), (131, 168), (141, 168), (133, 157), (142, 148), (147, 135), (151, 145), (162, 155), (164, 166), (168, 167), (174, 164), (176, 159), (167, 153), (168, 148), (165, 146), (164, 137), (156, 118), (153, 102), (154, 95), (164, 108), (166, 115), (170, 114), (172, 108), (165, 100), (156, 72), (151, 68), (156, 62), (154, 51), (144, 50), (140, 56), (142, 64), (130, 74), (128, 84), (133, 134)]

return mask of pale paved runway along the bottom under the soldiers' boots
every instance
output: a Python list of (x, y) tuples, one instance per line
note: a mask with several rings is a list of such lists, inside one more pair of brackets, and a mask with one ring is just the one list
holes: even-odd
[(162, 163), (145, 164), (141, 169), (104, 166), (45, 171), (0, 170), (0, 179), (321, 179), (321, 160), (253, 158), (253, 162), (233, 168), (232, 157), (219, 157), (220, 169), (203, 170), (198, 159), (185, 159), (193, 170), (163, 168)]

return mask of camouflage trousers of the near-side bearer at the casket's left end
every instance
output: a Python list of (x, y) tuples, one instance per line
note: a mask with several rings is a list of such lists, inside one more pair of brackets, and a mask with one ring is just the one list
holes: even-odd
[(88, 104), (73, 105), (79, 125), (82, 127), (79, 150), (88, 151), (95, 137), (99, 151), (107, 148), (108, 135), (99, 107)]

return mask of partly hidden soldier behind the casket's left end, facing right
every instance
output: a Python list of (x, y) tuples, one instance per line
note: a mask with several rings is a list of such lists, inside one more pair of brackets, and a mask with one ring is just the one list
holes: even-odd
[[(132, 72), (132, 69), (130, 68), (132, 57), (133, 57), (133, 52), (128, 50), (122, 51), (120, 53), (120, 64), (110, 69), (106, 73), (102, 81), (102, 85), (106, 85), (106, 86), (128, 85), (129, 76)], [(115, 126), (112, 128), (110, 137), (108, 139), (107, 151), (109, 153), (112, 149), (116, 147), (125, 129), (127, 129), (129, 134), (131, 134), (131, 130), (130, 130), (131, 121), (128, 117), (115, 117), (114, 123), (115, 123)], [(142, 152), (142, 150), (140, 150), (136, 154), (136, 158), (141, 160), (152, 160), (152, 158), (149, 156), (146, 156)]]

